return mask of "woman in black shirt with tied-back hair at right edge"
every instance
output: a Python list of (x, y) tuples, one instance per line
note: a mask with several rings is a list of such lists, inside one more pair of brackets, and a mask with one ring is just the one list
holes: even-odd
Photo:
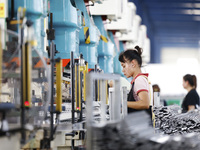
[(182, 112), (193, 110), (199, 106), (199, 95), (196, 91), (197, 80), (195, 75), (186, 74), (183, 76), (183, 88), (188, 91), (183, 99)]

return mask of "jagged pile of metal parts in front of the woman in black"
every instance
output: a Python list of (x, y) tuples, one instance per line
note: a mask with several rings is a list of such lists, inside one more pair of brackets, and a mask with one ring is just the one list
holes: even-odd
[(200, 111), (180, 113), (179, 106), (154, 107), (155, 127), (169, 135), (200, 132)]

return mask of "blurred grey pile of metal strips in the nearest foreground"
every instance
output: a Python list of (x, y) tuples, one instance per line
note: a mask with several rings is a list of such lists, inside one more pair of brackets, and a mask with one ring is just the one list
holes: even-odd
[[(179, 136), (155, 133), (145, 112), (133, 113), (124, 120), (104, 127), (92, 127), (92, 150), (199, 150), (195, 133)], [(185, 142), (187, 141), (187, 142)]]

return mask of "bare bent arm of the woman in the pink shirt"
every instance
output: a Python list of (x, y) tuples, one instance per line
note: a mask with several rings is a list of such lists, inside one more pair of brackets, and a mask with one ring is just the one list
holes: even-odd
[(139, 101), (136, 102), (127, 102), (127, 106), (133, 109), (148, 109), (149, 108), (149, 95), (147, 91), (141, 91), (138, 93), (140, 98)]

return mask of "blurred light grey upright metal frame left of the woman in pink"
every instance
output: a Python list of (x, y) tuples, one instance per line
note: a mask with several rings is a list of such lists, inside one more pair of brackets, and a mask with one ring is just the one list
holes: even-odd
[(110, 103), (112, 110), (112, 120), (110, 121), (119, 121), (121, 119), (121, 92), (120, 92), (120, 76), (119, 75), (113, 75), (113, 74), (100, 74), (100, 73), (89, 73), (86, 75), (86, 107), (87, 107), (87, 141), (86, 141), (86, 147), (87, 150), (92, 150), (92, 127), (93, 126), (104, 126), (107, 122), (105, 117), (105, 108), (106, 108), (106, 92), (101, 91), (101, 109), (103, 109), (101, 116), (101, 122), (97, 124), (93, 123), (93, 101), (95, 101), (95, 95), (94, 95), (94, 86), (95, 80), (100, 80), (101, 84), (100, 87), (105, 87), (106, 81), (105, 80), (114, 80), (114, 91), (118, 95), (114, 94), (113, 99), (114, 101)]

